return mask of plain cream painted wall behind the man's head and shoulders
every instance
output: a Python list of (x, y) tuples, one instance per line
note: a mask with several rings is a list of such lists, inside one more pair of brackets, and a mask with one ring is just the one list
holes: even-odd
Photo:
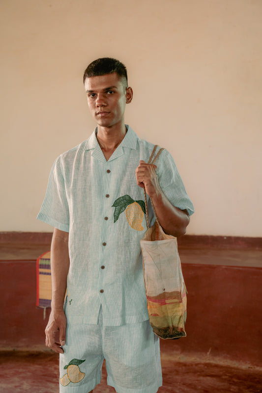
[(0, 231), (36, 220), (55, 158), (93, 131), (87, 64), (129, 71), (126, 123), (168, 148), (196, 213), (188, 234), (262, 236), (261, 0), (6, 0)]

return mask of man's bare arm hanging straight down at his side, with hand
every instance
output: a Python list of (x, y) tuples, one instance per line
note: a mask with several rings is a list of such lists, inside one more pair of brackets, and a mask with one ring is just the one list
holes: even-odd
[(65, 344), (66, 318), (63, 311), (69, 270), (68, 232), (54, 229), (51, 243), (52, 302), (46, 333), (46, 345), (55, 352), (63, 353)]

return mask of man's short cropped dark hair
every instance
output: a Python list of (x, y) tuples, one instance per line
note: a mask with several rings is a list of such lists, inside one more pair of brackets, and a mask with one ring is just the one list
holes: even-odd
[(112, 57), (101, 57), (100, 59), (92, 61), (84, 72), (83, 82), (85, 83), (86, 78), (100, 77), (115, 72), (119, 79), (125, 78), (127, 87), (126, 67), (119, 60)]

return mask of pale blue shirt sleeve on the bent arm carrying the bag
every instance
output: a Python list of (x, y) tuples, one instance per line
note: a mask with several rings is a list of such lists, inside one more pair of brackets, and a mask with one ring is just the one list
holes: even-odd
[(170, 203), (180, 210), (187, 210), (189, 215), (193, 214), (194, 206), (186, 193), (175, 161), (167, 150), (161, 153), (156, 165), (160, 187)]

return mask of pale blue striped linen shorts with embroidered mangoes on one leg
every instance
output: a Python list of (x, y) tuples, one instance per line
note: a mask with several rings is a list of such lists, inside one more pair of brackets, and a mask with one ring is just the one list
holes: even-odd
[(144, 322), (103, 326), (68, 324), (60, 354), (60, 393), (88, 393), (101, 381), (106, 360), (107, 383), (117, 393), (156, 393), (162, 386), (159, 338)]

